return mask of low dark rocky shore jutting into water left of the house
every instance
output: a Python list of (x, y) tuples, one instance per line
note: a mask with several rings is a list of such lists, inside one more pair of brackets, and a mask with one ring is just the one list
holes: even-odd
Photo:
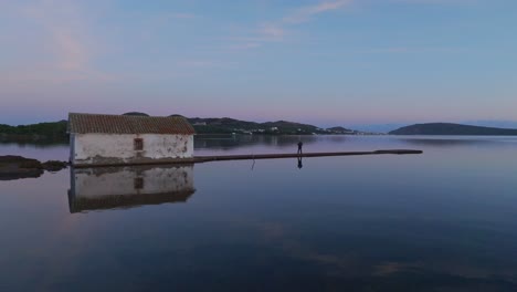
[(0, 156), (0, 180), (20, 178), (36, 178), (44, 171), (59, 171), (68, 167), (68, 163), (49, 160), (41, 163), (38, 159), (15, 155)]

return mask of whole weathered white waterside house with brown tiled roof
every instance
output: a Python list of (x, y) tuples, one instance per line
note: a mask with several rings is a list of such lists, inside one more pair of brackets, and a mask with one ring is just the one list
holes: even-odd
[(180, 116), (68, 114), (70, 161), (112, 166), (191, 161), (194, 129)]

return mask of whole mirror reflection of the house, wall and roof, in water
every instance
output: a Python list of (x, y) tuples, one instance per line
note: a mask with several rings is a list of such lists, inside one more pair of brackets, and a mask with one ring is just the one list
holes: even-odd
[(193, 165), (72, 168), (70, 212), (186, 202)]

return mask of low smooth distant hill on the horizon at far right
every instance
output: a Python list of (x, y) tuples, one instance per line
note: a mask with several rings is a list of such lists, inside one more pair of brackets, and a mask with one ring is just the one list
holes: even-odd
[(481, 127), (451, 123), (415, 124), (391, 131), (390, 135), (472, 135), (472, 136), (514, 136), (517, 129)]

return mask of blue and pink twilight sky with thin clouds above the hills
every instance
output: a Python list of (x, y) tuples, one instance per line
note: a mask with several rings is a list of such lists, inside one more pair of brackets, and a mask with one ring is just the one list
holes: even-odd
[(514, 0), (0, 0), (0, 124), (517, 121)]

